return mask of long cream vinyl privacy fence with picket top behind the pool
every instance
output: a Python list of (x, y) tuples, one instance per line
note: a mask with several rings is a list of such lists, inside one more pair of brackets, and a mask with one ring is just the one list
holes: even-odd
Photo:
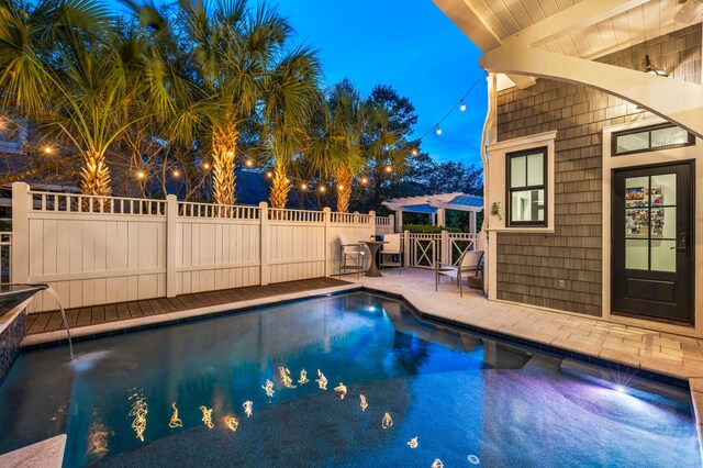
[[(15, 182), (8, 264), (14, 282), (47, 282), (78, 308), (336, 275), (338, 235), (362, 241), (377, 227), (373, 212), (88, 197)], [(31, 305), (54, 309), (43, 294)]]

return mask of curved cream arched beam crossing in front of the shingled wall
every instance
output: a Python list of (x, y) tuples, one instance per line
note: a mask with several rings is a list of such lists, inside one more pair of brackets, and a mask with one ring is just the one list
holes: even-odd
[(529, 47), (503, 46), (479, 58), (488, 71), (584, 85), (617, 96), (703, 138), (703, 86)]

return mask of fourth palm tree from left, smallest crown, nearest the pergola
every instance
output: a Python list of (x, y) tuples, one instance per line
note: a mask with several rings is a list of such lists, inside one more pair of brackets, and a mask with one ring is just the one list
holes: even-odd
[(337, 211), (347, 212), (354, 177), (362, 168), (365, 118), (358, 91), (348, 80), (333, 87), (317, 121), (312, 143), (312, 167), (337, 179)]

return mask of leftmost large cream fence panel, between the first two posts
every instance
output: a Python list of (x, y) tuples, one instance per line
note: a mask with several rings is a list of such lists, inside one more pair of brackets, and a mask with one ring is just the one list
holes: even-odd
[[(53, 194), (30, 196), (42, 200), (27, 213), (30, 282), (48, 283), (69, 308), (166, 294), (165, 215), (105, 212), (104, 207), (122, 208), (123, 200), (99, 204), (74, 196), (59, 203)], [(56, 307), (42, 293), (30, 311)]]

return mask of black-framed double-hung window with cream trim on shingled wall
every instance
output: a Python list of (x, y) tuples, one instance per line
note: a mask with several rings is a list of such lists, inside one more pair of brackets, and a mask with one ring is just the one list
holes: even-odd
[(547, 148), (506, 155), (507, 225), (547, 225)]

